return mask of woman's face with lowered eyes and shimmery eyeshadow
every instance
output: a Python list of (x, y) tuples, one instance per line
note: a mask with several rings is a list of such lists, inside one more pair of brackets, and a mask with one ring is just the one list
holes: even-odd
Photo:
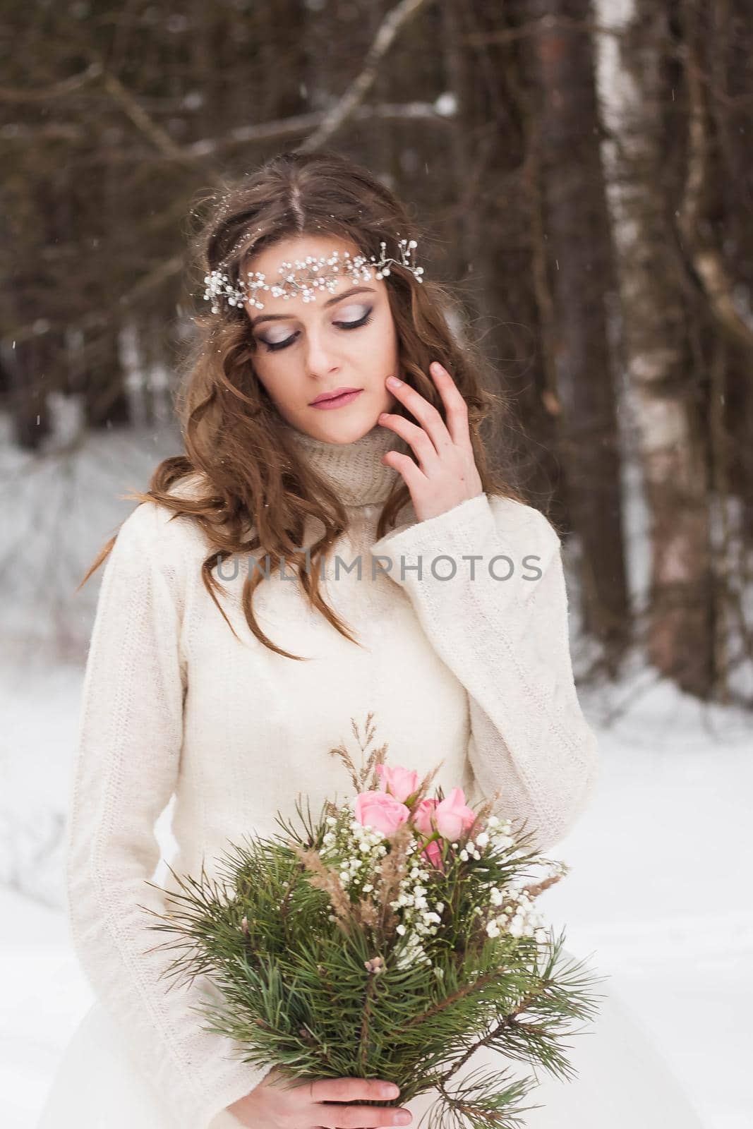
[[(338, 251), (356, 256), (353, 244), (336, 236), (300, 236), (265, 247), (244, 264), (260, 271), (266, 282), (279, 279), (283, 261), (318, 259)], [(377, 280), (354, 282), (348, 274), (335, 289), (316, 290), (313, 301), (273, 298), (260, 292), (263, 309), (249, 303), (245, 310), (255, 341), (254, 369), (280, 415), (306, 435), (327, 443), (354, 443), (377, 426), (380, 412), (396, 406), (385, 378), (397, 371), (397, 332), (387, 285)], [(339, 388), (358, 394), (336, 406), (317, 408), (313, 401)]]

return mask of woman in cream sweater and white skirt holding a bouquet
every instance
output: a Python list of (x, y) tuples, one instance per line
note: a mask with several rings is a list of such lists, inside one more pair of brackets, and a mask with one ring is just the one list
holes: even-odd
[[(483, 359), (450, 331), (411, 229), (331, 152), (270, 160), (208, 221), (186, 454), (157, 467), (87, 574), (108, 555), (67, 855), (97, 1000), (41, 1129), (403, 1123), (399, 1108), (348, 1104), (383, 1096), (377, 1082), (271, 1086), (203, 1029), (193, 1008), (210, 984), (167, 990), (145, 910), (164, 909), (146, 879), (173, 794), (173, 869), (211, 869), (227, 840), (278, 830), (298, 793), (312, 809), (344, 798), (329, 751), (369, 712), (392, 763), (441, 762), (435, 784), (470, 803), (499, 793), (498, 813), (542, 850), (593, 794), (560, 539), (488, 466)], [(614, 1129), (640, 1109), (642, 1123), (692, 1127), (615, 1008), (576, 1038), (598, 1047), (576, 1048), (577, 1082), (542, 1080), (531, 1126)], [(431, 1100), (409, 1103), (414, 1123)]]

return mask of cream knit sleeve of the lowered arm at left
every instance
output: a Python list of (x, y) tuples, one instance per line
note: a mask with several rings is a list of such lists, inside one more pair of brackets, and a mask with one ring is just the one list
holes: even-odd
[(165, 912), (147, 879), (159, 857), (155, 822), (180, 772), (187, 682), (185, 553), (181, 519), (166, 516), (165, 507), (139, 505), (105, 563), (72, 776), (67, 909), (77, 956), (164, 1103), (166, 1126), (230, 1129), (239, 1122), (226, 1106), (268, 1070), (231, 1058), (237, 1044), (203, 1029), (208, 1019), (194, 1006), (205, 979), (160, 979), (175, 951), (154, 951), (166, 935), (149, 928), (156, 919), (145, 911)]

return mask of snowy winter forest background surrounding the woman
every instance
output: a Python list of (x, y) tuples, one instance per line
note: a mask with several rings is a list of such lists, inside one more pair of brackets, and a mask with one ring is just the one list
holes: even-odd
[(193, 218), (326, 147), (435, 235), (567, 531), (604, 769), (542, 908), (706, 1123), (750, 1124), (752, 0), (6, 0), (0, 55), (2, 1124), (91, 998), (62, 838), (100, 572), (76, 587), (181, 449)]

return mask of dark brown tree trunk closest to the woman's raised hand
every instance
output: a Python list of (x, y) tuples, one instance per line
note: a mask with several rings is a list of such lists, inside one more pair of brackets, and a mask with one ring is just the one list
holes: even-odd
[(560, 467), (546, 355), (537, 341), (539, 244), (529, 151), (533, 111), (525, 65), (515, 44), (496, 42), (500, 30), (507, 29), (506, 12), (497, 0), (458, 5), (457, 15), (459, 42), (469, 44), (463, 60), (466, 108), (458, 120), (467, 140), (455, 149), (455, 163), (464, 150), (469, 152), (467, 166), (457, 168), (456, 192), (463, 211), (461, 231), (469, 240), (467, 289), (479, 312), (478, 335), (499, 370), (500, 387), (510, 404), (509, 426), (499, 437), (506, 448), (504, 462), (515, 469), (514, 484), (534, 505), (549, 510)]

